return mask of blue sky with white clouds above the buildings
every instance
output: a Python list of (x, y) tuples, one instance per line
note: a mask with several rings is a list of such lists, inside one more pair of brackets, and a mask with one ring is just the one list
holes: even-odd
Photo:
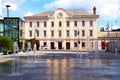
[(57, 8), (65, 10), (79, 10), (92, 13), (96, 6), (97, 15), (100, 16), (99, 30), (120, 28), (120, 0), (2, 0), (2, 16), (7, 16), (6, 6), (9, 4), (9, 16), (20, 17), (37, 14), (45, 11), (54, 11)]

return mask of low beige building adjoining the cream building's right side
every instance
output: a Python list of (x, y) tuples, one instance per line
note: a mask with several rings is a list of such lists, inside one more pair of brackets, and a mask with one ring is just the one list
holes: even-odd
[(104, 31), (98, 32), (99, 50), (115, 52), (115, 49), (120, 52), (120, 31)]

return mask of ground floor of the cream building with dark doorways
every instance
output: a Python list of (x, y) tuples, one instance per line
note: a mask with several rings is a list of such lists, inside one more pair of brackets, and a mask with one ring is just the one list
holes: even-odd
[(54, 49), (54, 50), (94, 50), (95, 40), (86, 41), (83, 40), (39, 40), (40, 48), (44, 49)]

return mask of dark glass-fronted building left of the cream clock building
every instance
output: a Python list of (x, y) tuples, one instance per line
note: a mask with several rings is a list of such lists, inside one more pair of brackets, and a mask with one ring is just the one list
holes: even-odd
[(7, 36), (24, 49), (24, 21), (19, 17), (4, 17), (0, 20), (0, 36)]

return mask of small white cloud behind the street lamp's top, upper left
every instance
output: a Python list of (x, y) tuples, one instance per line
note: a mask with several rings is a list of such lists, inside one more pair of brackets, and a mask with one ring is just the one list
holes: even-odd
[(3, 1), (3, 8), (5, 8), (5, 5), (10, 5), (10, 10), (17, 11), (19, 6), (24, 3), (26, 0), (4, 0)]

